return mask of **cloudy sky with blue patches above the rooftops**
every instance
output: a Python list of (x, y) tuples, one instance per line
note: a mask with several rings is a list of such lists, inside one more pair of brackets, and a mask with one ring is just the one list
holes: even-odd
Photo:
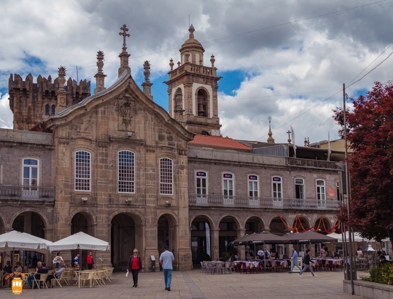
[[(338, 138), (332, 109), (342, 84), (355, 98), (374, 81), (392, 79), (392, 0), (2, 0), (0, 9), (0, 126), (12, 128), (8, 78), (28, 73), (68, 76), (95, 84), (96, 52), (105, 53), (108, 87), (117, 77), (123, 24), (132, 76), (142, 83), (151, 63), (154, 100), (168, 111), (169, 59), (188, 39), (189, 19), (211, 54), (219, 81), (223, 136), (266, 141), (268, 117), (276, 142), (290, 126), (296, 144)], [(148, 4), (147, 4), (148, 3)], [(393, 56), (393, 55), (392, 55)], [(376, 67), (376, 68), (375, 68)], [(374, 69), (375, 68), (375, 69)], [(373, 70), (374, 69), (374, 70)], [(371, 71), (371, 72), (370, 72)], [(369, 73), (370, 72), (370, 73)], [(367, 74), (368, 73), (368, 74)]]

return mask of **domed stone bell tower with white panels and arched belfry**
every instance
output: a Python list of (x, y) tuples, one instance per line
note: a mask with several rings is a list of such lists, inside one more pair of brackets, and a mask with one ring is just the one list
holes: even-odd
[[(169, 61), (168, 85), (169, 114), (175, 118), (179, 111), (179, 88), (181, 89), (183, 124), (195, 133), (209, 133), (221, 136), (220, 119), (218, 117), (218, 80), (217, 68), (214, 66), (214, 56), (211, 55), (210, 67), (203, 65), (204, 49), (194, 38), (194, 26), (188, 29), (189, 38), (180, 48), (180, 61), (173, 69), (172, 58)], [(176, 93), (177, 91), (177, 93)]]

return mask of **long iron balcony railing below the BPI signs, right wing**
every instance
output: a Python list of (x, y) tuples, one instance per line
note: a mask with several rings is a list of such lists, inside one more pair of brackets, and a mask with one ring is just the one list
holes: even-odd
[(297, 210), (337, 210), (338, 200), (276, 199), (266, 197), (189, 194), (190, 206), (245, 207)]

